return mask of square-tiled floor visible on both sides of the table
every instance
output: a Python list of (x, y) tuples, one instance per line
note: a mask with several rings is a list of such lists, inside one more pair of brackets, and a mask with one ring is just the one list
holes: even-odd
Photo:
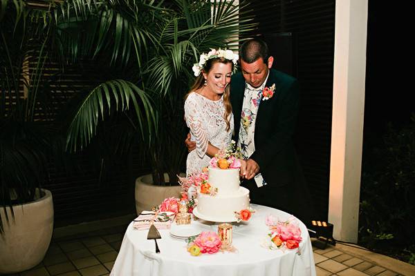
[[(46, 253), (46, 257), (41, 264), (31, 270), (15, 275), (109, 275), (117, 257), (125, 227), (120, 226), (83, 235), (55, 239), (50, 244), (48, 253)], [(361, 257), (360, 254), (353, 255), (353, 253), (350, 253), (349, 250), (344, 250), (344, 248), (344, 246), (340, 248), (339, 246), (329, 246), (322, 250), (313, 247), (317, 276), (403, 275), (396, 272), (398, 265), (394, 264), (393, 259), (391, 259), (391, 263), (382, 262), (382, 264), (387, 265), (379, 266), (376, 262), (368, 262), (367, 258)], [(370, 254), (374, 255), (374, 253)], [(408, 264), (405, 265), (409, 266)], [(412, 267), (409, 266), (410, 271), (412, 271), (411, 269)], [(405, 273), (405, 275), (415, 274)]]

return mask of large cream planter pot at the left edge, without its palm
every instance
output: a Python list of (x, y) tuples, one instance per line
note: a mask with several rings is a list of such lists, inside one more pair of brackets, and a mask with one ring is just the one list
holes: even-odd
[(53, 201), (49, 190), (33, 202), (13, 206), (15, 219), (3, 206), (4, 233), (0, 235), (0, 274), (18, 273), (33, 268), (44, 259), (53, 233)]

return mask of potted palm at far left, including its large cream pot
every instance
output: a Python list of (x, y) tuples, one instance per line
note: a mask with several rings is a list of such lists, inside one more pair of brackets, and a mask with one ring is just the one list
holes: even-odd
[(44, 1), (32, 6), (1, 0), (0, 274), (26, 270), (44, 258), (53, 232), (53, 200), (42, 184), (48, 163), (59, 159), (53, 157), (89, 144), (98, 119), (116, 111), (132, 110), (131, 121), (138, 122), (142, 137), (152, 132), (153, 108), (139, 81), (106, 80), (80, 95), (70, 116), (56, 116), (48, 86), (53, 76), (44, 73), (50, 62), (63, 70), (102, 53), (118, 68), (131, 60), (142, 62), (149, 24), (137, 13), (154, 20), (162, 12), (145, 2)]

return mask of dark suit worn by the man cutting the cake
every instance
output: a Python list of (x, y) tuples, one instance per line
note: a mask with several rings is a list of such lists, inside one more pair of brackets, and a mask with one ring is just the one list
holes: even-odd
[[(243, 186), (250, 189), (252, 203), (286, 210), (307, 224), (311, 219), (308, 189), (293, 144), (299, 109), (298, 81), (270, 70), (267, 87), (273, 97), (261, 101), (255, 122), (255, 152), (249, 157), (257, 162), (267, 185), (257, 188), (253, 179)], [(239, 139), (241, 111), (246, 81), (241, 72), (232, 77), (230, 102), (234, 114), (234, 139)], [(308, 210), (307, 210), (308, 209)]]

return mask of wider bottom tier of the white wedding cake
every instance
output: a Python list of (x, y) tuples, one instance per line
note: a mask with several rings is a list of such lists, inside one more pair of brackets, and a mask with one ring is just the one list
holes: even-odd
[(194, 215), (201, 219), (216, 222), (236, 221), (234, 212), (249, 207), (249, 190), (239, 187), (239, 190), (233, 195), (217, 195), (211, 196), (207, 194), (198, 194), (197, 207)]

